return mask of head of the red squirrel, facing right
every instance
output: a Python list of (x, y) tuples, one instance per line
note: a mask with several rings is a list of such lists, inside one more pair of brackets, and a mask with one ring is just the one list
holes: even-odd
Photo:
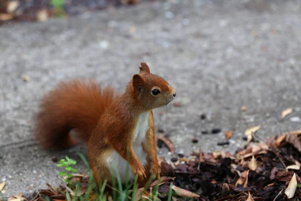
[(146, 63), (141, 63), (139, 74), (133, 75), (130, 84), (133, 99), (145, 110), (168, 105), (177, 93), (164, 78), (150, 73)]

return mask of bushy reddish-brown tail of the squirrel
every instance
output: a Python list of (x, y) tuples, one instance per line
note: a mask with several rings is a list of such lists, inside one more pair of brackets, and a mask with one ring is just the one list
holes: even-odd
[[(65, 149), (87, 142), (114, 98), (113, 88), (101, 88), (96, 81), (59, 83), (41, 100), (35, 117), (35, 139), (45, 149)], [(79, 140), (70, 135), (71, 131), (78, 134)]]

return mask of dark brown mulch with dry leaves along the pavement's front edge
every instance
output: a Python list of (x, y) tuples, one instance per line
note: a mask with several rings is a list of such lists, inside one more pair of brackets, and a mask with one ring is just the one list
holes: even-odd
[[(162, 180), (158, 197), (168, 200), (173, 183), (173, 200), (299, 200), (300, 153), (301, 130), (266, 142), (252, 140), (233, 155), (225, 151), (203, 153), (200, 149), (189, 156), (180, 155), (175, 162), (160, 158)], [(81, 188), (86, 189), (88, 177), (83, 175), (77, 179), (81, 181)], [(147, 191), (158, 183), (159, 180), (154, 181)], [(49, 189), (39, 190), (33, 200), (45, 200), (44, 195), (63, 200), (66, 190), (64, 186), (49, 185)], [(289, 193), (292, 194), (290, 199)]]

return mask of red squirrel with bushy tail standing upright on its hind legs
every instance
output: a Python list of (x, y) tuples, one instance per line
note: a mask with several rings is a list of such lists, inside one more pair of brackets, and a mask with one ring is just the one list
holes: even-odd
[(143, 185), (151, 174), (160, 177), (152, 110), (168, 105), (175, 96), (176, 90), (150, 73), (146, 63), (141, 63), (139, 74), (133, 75), (123, 94), (93, 80), (61, 82), (41, 100), (35, 139), (45, 149), (87, 143), (96, 181), (111, 182), (110, 170), (116, 167), (125, 182), (129, 153), (128, 180), (138, 174), (138, 183)]

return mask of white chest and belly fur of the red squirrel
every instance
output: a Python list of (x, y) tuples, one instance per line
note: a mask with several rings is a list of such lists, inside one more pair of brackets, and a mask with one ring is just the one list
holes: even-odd
[[(144, 152), (141, 143), (145, 140), (145, 133), (148, 129), (148, 114), (148, 112), (144, 112), (139, 115), (133, 139), (134, 153), (143, 166), (145, 166), (147, 163), (147, 154)], [(122, 182), (125, 182), (127, 164), (127, 161), (124, 160), (116, 151), (113, 151), (112, 154), (107, 158), (108, 167), (117, 169)], [(133, 180), (135, 176), (130, 165), (128, 165), (128, 170), (128, 179)]]

